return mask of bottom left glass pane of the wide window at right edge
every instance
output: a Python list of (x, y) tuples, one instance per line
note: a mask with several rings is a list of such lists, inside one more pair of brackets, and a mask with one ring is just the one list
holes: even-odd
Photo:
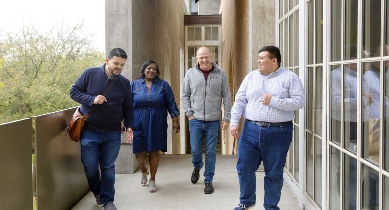
[(340, 209), (340, 151), (335, 147), (329, 149), (329, 208)]

